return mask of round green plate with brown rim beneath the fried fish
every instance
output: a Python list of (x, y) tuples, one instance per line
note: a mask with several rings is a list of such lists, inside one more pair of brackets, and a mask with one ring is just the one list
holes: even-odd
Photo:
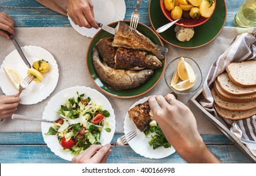
[[(120, 22), (116, 21), (115, 23), (111, 23), (108, 26), (115, 28), (119, 23), (120, 24), (125, 23), (125, 26), (127, 26), (127, 25), (129, 26), (129, 22), (130, 21), (120, 21)], [(165, 47), (163, 47), (163, 43), (162, 43), (161, 39), (159, 38), (159, 36), (156, 35), (156, 33), (153, 30), (151, 30), (151, 28), (149, 28), (148, 26), (143, 25), (142, 23), (139, 23), (137, 26), (137, 31), (139, 31), (139, 33), (143, 34), (144, 36), (146, 36), (146, 38), (148, 38), (145, 40), (151, 40), (151, 43), (158, 46), (158, 48), (166, 49)], [(116, 84), (117, 89), (116, 88), (113, 89), (113, 86), (110, 86), (110, 84), (107, 84), (107, 82), (108, 82), (107, 79), (108, 78), (111, 79), (111, 76), (109, 76), (109, 75), (108, 75), (108, 77), (106, 76), (105, 81), (103, 81), (103, 79), (100, 78), (100, 76), (98, 75), (98, 70), (95, 69), (96, 66), (93, 62), (93, 55), (95, 55), (94, 48), (96, 48), (95, 47), (96, 44), (103, 38), (113, 38), (113, 37), (114, 36), (112, 34), (108, 33), (107, 31), (100, 30), (92, 38), (90, 45), (88, 47), (88, 50), (87, 50), (87, 55), (86, 55), (86, 67), (87, 67), (87, 70), (88, 70), (91, 80), (96, 85), (96, 87), (98, 87), (102, 92), (104, 92), (105, 94), (108, 94), (110, 96), (113, 96), (113, 97), (127, 99), (127, 98), (132, 98), (132, 97), (138, 97), (138, 96), (145, 94), (146, 92), (149, 92), (151, 89), (153, 89), (153, 87), (156, 84), (158, 84), (161, 77), (163, 76), (163, 73), (165, 72), (167, 49), (165, 51), (165, 55), (162, 55), (161, 59), (159, 59), (159, 61), (161, 63), (161, 67), (158, 69), (154, 69), (153, 73), (151, 74), (151, 77), (148, 80), (146, 80), (144, 82), (144, 84), (141, 84), (141, 82), (139, 82), (138, 87), (120, 90), (118, 85), (124, 85), (124, 84), (119, 83), (119, 84)], [(96, 54), (98, 55), (98, 53), (100, 53), (100, 52), (102, 52), (102, 50), (98, 50), (98, 52)], [(105, 53), (108, 53), (108, 51), (105, 51)], [(153, 55), (154, 58), (160, 58), (158, 53), (152, 53), (152, 52), (148, 52), (148, 51), (145, 53), (146, 53), (146, 55)], [(156, 57), (156, 55), (157, 55), (157, 57)], [(109, 73), (113, 74), (113, 72), (115, 72), (115, 70), (110, 69)], [(119, 70), (122, 70), (122, 69), (119, 69)], [(144, 69), (144, 70), (147, 70), (147, 69)], [(144, 70), (140, 70), (140, 71), (136, 70), (136, 74), (137, 74), (137, 72), (144, 72)], [(122, 71), (124, 71), (124, 70), (122, 70)], [(134, 72), (134, 70), (132, 70), (132, 72)], [(136, 76), (134, 76), (134, 77), (136, 77)], [(143, 77), (146, 77), (146, 76), (143, 75)], [(136, 79), (137, 79), (137, 77), (136, 77)], [(112, 80), (110, 80), (110, 81), (112, 81)]]

